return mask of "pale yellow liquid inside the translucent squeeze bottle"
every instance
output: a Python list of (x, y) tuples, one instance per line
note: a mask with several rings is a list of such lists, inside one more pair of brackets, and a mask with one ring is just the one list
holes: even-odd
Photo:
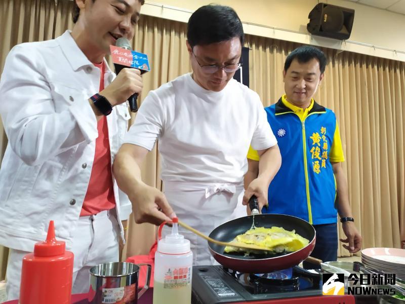
[(178, 288), (165, 288), (164, 283), (153, 282), (153, 304), (190, 304), (191, 283)]

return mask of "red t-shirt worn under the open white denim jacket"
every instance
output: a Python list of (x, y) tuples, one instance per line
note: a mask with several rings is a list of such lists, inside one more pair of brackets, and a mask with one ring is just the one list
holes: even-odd
[[(104, 62), (94, 65), (101, 70), (101, 91), (104, 90)], [(97, 214), (115, 207), (110, 143), (108, 141), (107, 118), (105, 116), (98, 121), (97, 130), (96, 153), (94, 154), (92, 173), (80, 216)]]

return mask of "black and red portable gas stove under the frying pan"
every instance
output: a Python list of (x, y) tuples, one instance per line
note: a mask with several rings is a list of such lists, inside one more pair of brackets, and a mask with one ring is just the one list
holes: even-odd
[(322, 277), (298, 266), (271, 274), (245, 274), (223, 266), (195, 266), (192, 304), (354, 304), (351, 295), (322, 295)]

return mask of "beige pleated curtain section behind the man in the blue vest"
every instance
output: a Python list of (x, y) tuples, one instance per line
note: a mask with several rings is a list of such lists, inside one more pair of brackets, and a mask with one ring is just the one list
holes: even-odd
[[(251, 88), (265, 106), (284, 92), (282, 70), (298, 45), (247, 36)], [(362, 247), (405, 241), (405, 63), (323, 49), (329, 59), (315, 100), (335, 111), (346, 161), (349, 199)], [(341, 226), (339, 235), (344, 237)], [(339, 255), (349, 252), (339, 246)]]

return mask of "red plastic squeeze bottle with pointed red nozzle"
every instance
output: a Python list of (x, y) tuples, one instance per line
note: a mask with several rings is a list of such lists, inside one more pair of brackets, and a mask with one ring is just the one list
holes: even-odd
[(20, 304), (70, 304), (73, 253), (55, 239), (54, 221), (49, 222), (45, 242), (22, 260)]

